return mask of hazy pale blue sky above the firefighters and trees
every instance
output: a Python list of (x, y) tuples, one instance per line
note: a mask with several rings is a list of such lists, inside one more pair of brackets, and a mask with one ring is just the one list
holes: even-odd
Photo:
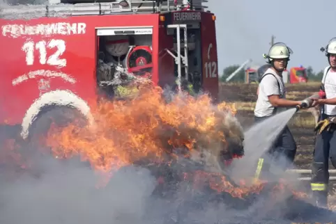
[(289, 67), (328, 65), (319, 50), (336, 37), (335, 0), (208, 0), (217, 17), (219, 70), (248, 58), (264, 63), (271, 35), (293, 50)]

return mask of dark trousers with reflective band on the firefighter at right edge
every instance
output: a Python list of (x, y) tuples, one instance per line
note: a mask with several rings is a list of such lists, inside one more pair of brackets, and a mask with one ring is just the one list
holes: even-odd
[[(322, 119), (325, 119), (323, 116)], [(324, 130), (316, 135), (312, 163), (311, 187), (317, 204), (326, 206), (329, 183), (329, 158), (336, 168), (336, 131)]]

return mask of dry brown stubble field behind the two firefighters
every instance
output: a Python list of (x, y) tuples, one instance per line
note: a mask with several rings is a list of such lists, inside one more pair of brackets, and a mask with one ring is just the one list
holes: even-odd
[[(237, 117), (243, 127), (253, 122), (253, 110), (257, 100), (257, 84), (220, 84), (220, 97), (225, 102), (235, 102)], [(287, 84), (287, 98), (302, 100), (319, 90), (320, 83)], [(298, 150), (296, 166), (310, 169), (314, 150), (314, 118), (312, 113), (300, 111), (289, 122), (289, 127), (296, 139)]]

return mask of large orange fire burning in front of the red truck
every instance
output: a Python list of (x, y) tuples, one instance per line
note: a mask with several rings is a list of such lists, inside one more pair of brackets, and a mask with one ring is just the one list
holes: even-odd
[[(234, 104), (214, 106), (208, 95), (167, 100), (162, 88), (144, 85), (132, 99), (101, 102), (93, 110), (94, 127), (55, 127), (47, 144), (57, 158), (79, 155), (95, 170), (112, 175), (132, 164), (176, 166), (187, 159), (202, 169), (187, 169), (182, 181), (192, 179), (195, 188), (206, 184), (215, 192), (244, 198), (259, 193), (264, 184), (238, 186), (223, 175), (224, 161), (243, 156), (243, 129), (235, 114)], [(165, 182), (163, 172), (157, 173), (159, 184)]]

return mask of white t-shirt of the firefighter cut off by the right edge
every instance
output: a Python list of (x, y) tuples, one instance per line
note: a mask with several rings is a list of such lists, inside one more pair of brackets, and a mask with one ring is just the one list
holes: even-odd
[[(326, 98), (331, 99), (336, 97), (336, 72), (328, 71), (326, 67), (323, 72), (322, 83), (324, 84), (324, 90), (326, 91)], [(328, 71), (328, 74), (327, 74)], [(327, 115), (336, 115), (336, 105), (324, 105), (324, 113)]]

